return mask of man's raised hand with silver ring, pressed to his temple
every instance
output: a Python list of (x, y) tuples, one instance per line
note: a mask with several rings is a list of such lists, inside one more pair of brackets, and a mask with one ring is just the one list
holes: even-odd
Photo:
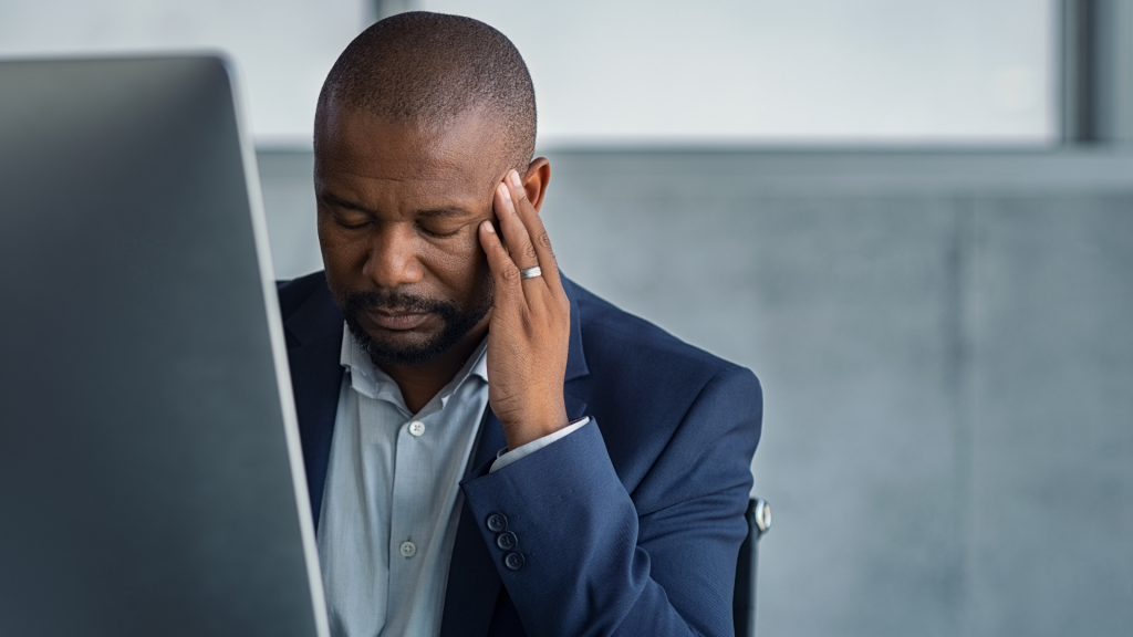
[[(488, 324), (488, 401), (503, 425), (508, 449), (517, 449), (566, 426), (563, 379), (570, 341), (570, 301), (559, 280), (555, 255), (519, 172), (496, 186), (496, 219), (480, 224), (480, 245), (495, 280)], [(520, 271), (539, 266), (540, 277)]]

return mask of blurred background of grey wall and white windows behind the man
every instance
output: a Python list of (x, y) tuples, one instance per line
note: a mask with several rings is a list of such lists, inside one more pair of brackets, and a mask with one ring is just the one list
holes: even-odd
[(564, 272), (763, 380), (760, 635), (1133, 634), (1133, 1), (0, 0), (0, 56), (227, 51), (290, 278), (408, 9), (528, 60)]

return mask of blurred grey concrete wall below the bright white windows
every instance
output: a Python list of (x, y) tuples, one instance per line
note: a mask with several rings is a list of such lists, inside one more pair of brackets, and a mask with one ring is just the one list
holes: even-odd
[(761, 636), (1133, 634), (1133, 156), (551, 160), (568, 275), (764, 382)]

